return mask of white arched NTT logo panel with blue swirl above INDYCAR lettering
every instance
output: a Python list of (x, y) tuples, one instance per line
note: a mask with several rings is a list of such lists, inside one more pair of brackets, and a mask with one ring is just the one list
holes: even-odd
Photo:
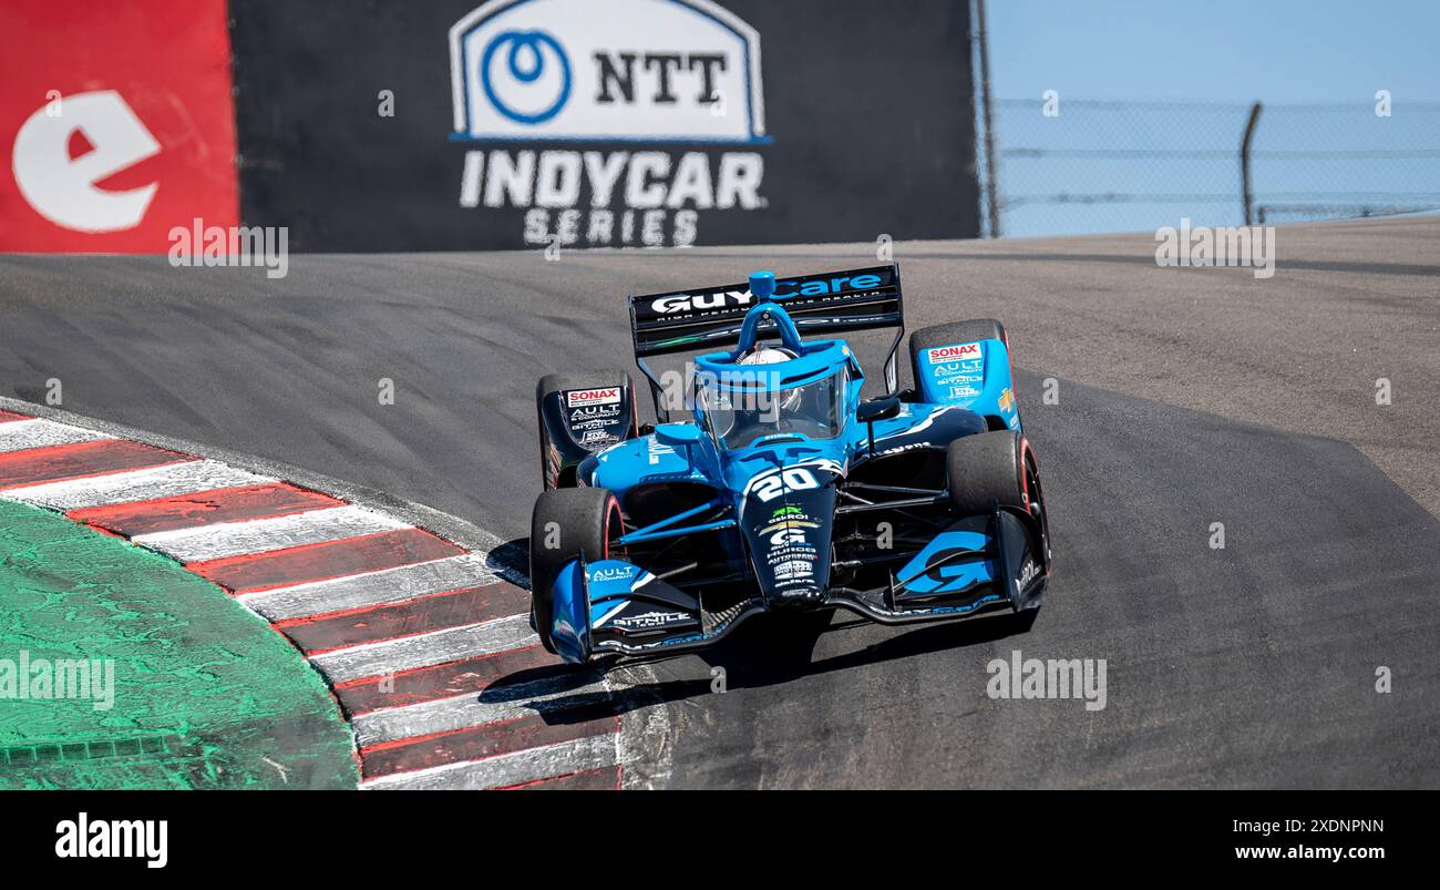
[(449, 50), (452, 138), (769, 141), (760, 36), (710, 0), (491, 0)]

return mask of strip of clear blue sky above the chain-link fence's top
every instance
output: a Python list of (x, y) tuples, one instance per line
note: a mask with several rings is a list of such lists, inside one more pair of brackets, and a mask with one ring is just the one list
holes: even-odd
[(988, 0), (996, 96), (1440, 101), (1440, 0)]

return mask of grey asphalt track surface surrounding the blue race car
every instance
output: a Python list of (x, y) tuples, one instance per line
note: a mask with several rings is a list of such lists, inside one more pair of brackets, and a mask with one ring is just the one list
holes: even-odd
[[(1028, 632), (757, 619), (648, 670), (628, 719), (667, 720), (628, 770), (740, 788), (1440, 785), (1436, 243), (1436, 219), (1282, 228), (1269, 279), (1158, 268), (1148, 235), (896, 245), (912, 328), (1007, 324), (1054, 521), (1044, 611)], [(55, 377), (66, 409), (514, 539), (540, 487), (534, 380), (629, 367), (625, 292), (873, 262), (871, 245), (317, 255), (272, 281), (6, 256), (0, 392), (43, 403)], [(1014, 649), (1106, 660), (1106, 707), (986, 697), (986, 662)]]

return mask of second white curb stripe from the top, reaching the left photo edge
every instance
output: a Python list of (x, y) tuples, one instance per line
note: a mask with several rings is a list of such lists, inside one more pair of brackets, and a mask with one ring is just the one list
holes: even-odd
[(0, 497), (52, 510), (82, 510), (274, 481), (271, 477), (245, 472), (219, 461), (186, 461), (145, 469), (108, 472), (82, 480), (60, 480), (42, 485), (10, 488), (0, 491)]

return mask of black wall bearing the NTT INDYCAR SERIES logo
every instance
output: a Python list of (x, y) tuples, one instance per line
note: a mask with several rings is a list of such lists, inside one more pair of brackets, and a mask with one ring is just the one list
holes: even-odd
[(304, 251), (973, 238), (968, 4), (232, 0), (240, 212)]

